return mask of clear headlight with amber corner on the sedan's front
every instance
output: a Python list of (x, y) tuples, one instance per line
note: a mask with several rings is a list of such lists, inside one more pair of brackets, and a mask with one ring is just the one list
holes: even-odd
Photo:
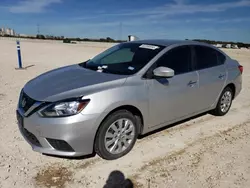
[(81, 112), (89, 100), (72, 100), (54, 103), (40, 112), (44, 117), (67, 117)]

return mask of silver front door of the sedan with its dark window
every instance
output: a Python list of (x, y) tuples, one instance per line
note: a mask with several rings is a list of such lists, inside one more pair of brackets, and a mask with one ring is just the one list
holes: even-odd
[(175, 47), (158, 59), (154, 68), (168, 67), (175, 71), (172, 78), (147, 80), (151, 127), (171, 123), (195, 113), (198, 73), (193, 71), (191, 48)]

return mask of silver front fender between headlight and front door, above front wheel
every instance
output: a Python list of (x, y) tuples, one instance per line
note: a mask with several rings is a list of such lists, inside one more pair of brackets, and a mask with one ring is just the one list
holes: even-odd
[(144, 119), (144, 125), (147, 124), (148, 91), (146, 81), (139, 76), (129, 77), (119, 87), (86, 95), (84, 99), (90, 99), (90, 102), (81, 112), (82, 114), (99, 113), (102, 116), (102, 114), (107, 115), (118, 107), (131, 105), (140, 110)]

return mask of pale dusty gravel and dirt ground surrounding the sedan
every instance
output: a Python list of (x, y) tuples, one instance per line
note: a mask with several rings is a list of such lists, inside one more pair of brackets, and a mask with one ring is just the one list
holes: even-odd
[(228, 115), (177, 124), (138, 140), (127, 156), (105, 161), (33, 152), (19, 133), (15, 108), (28, 80), (86, 60), (107, 44), (24, 41), (21, 47), (27, 70), (15, 70), (15, 42), (0, 40), (0, 187), (111, 187), (113, 180), (131, 180), (134, 187), (250, 187), (250, 50), (226, 50), (244, 66), (243, 90)]

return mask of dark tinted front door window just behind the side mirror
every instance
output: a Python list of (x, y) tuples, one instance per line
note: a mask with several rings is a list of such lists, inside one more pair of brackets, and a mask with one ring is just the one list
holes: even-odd
[(182, 74), (192, 70), (191, 50), (189, 46), (176, 47), (164, 54), (156, 62), (157, 67), (168, 67), (175, 71), (175, 74)]

